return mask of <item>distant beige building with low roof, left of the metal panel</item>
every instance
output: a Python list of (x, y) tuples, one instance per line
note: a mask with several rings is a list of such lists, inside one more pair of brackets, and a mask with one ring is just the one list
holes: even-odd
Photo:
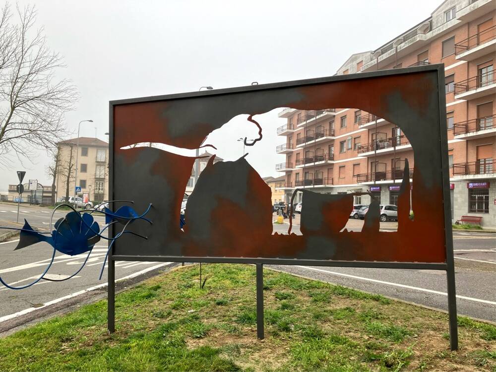
[[(109, 200), (109, 144), (98, 138), (79, 137), (57, 143), (59, 165), (56, 176), (57, 200), (65, 196), (69, 175), (69, 196), (80, 186), (78, 196), (91, 201)], [(75, 180), (77, 153), (77, 180)]]

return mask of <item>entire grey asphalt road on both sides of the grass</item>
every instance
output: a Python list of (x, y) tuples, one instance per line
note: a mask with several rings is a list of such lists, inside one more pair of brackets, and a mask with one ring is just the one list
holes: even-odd
[[(17, 207), (0, 203), (0, 226), (15, 222)], [(32, 227), (48, 230), (51, 209), (21, 206), (20, 216), (26, 218)], [(66, 211), (56, 212), (56, 218)], [(100, 225), (104, 218), (95, 216)], [(293, 232), (300, 234), (299, 217)], [(348, 228), (359, 229), (360, 221), (350, 220)], [(395, 229), (394, 222), (381, 223), (381, 229)], [(287, 233), (288, 225), (274, 225), (274, 231)], [(491, 233), (454, 233), (456, 265), (456, 289), (458, 312), (481, 319), (496, 321), (496, 240)], [(0, 276), (7, 283), (23, 285), (38, 277), (46, 267), (51, 248), (38, 244), (20, 251), (13, 251), (17, 242), (0, 244)], [(102, 280), (98, 280), (106, 242), (99, 242), (91, 254), (86, 267), (74, 278), (65, 282), (40, 281), (34, 286), (21, 290), (0, 288), (0, 330), (4, 321), (26, 312), (36, 313), (37, 308), (46, 307), (88, 288), (105, 286), (107, 270)], [(75, 272), (84, 257), (70, 257), (57, 254), (49, 271), (51, 278), (63, 278)], [(122, 279), (158, 270), (167, 263), (159, 262), (117, 262), (116, 278)], [(337, 267), (274, 266), (277, 269), (297, 273), (348, 287), (379, 293), (405, 301), (438, 309), (447, 309), (445, 273), (434, 270), (400, 270)]]

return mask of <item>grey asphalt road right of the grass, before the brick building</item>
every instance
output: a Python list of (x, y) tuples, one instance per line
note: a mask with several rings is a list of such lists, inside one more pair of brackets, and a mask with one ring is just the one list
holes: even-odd
[[(360, 223), (350, 220), (347, 228), (359, 230), (357, 226)], [(286, 223), (274, 224), (274, 231), (285, 234), (288, 226)], [(381, 223), (380, 226), (384, 231), (394, 230), (395, 227), (394, 222)], [(301, 234), (298, 225), (293, 226), (292, 232)], [(458, 314), (496, 322), (496, 235), (457, 231), (453, 233), (453, 246)], [(285, 265), (270, 267), (447, 310), (444, 271)]]

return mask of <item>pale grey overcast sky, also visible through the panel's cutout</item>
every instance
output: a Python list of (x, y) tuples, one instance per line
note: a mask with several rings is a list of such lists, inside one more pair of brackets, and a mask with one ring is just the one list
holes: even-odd
[[(68, 77), (80, 93), (76, 110), (65, 115), (76, 137), (108, 140), (108, 102), (115, 99), (330, 76), (354, 53), (378, 48), (429, 17), (441, 0), (355, 1), (19, 1), (35, 4), (37, 25), (48, 45), (64, 57)], [(15, 5), (15, 3), (12, 3)], [(264, 138), (247, 148), (248, 161), (265, 176), (279, 176), (284, 162), (275, 146), (284, 138), (277, 112), (258, 118)], [(240, 125), (241, 124), (241, 125)], [(96, 129), (95, 129), (96, 127)], [(245, 117), (235, 118), (207, 142), (218, 155), (235, 160), (243, 153), (240, 136), (257, 130)], [(209, 150), (210, 151), (210, 150)], [(40, 151), (26, 164), (26, 182), (50, 185)], [(16, 184), (15, 171), (0, 168), (0, 190)]]

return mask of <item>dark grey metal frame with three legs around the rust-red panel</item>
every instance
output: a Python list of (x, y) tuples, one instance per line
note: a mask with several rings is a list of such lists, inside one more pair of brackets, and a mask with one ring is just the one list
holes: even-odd
[[(391, 70), (381, 70), (373, 72), (363, 72), (353, 75), (338, 75), (324, 78), (315, 78), (307, 80), (286, 81), (273, 84), (250, 85), (244, 87), (206, 90), (200, 92), (189, 92), (181, 94), (170, 94), (164, 96), (152, 96), (133, 99), (124, 99), (111, 101), (109, 104), (109, 198), (114, 198), (114, 106), (152, 102), (171, 99), (184, 99), (192, 97), (204, 97), (211, 95), (225, 95), (240, 92), (256, 92), (268, 89), (288, 88), (307, 86), (319, 83), (355, 80), (357, 78), (384, 77), (388, 75), (405, 74), (409, 72), (437, 72), (437, 91), (439, 105), (439, 138), (441, 151), (441, 174), (443, 184), (443, 205), (444, 205), (444, 232), (445, 232), (445, 263), (422, 263), (422, 262), (368, 262), (368, 261), (332, 261), (332, 260), (309, 260), (309, 259), (266, 259), (266, 258), (236, 258), (236, 257), (184, 257), (184, 256), (140, 256), (140, 255), (114, 255), (113, 250), (109, 254), (108, 264), (108, 330), (115, 331), (115, 261), (172, 261), (172, 262), (216, 262), (216, 263), (250, 263), (256, 264), (256, 284), (257, 284), (257, 336), (263, 338), (263, 264), (282, 264), (282, 265), (306, 265), (306, 266), (329, 266), (329, 267), (371, 267), (371, 268), (397, 268), (397, 269), (430, 269), (445, 270), (447, 279), (447, 297), (449, 313), (449, 333), (451, 350), (458, 349), (458, 331), (457, 331), (457, 314), (456, 314), (456, 293), (455, 293), (455, 276), (454, 276), (454, 259), (453, 259), (453, 241), (451, 226), (451, 205), (449, 193), (449, 165), (448, 154), (442, 152), (447, 148), (447, 130), (446, 130), (446, 101), (444, 94), (444, 67), (442, 64), (431, 64), (416, 67), (407, 67)], [(444, 123), (444, 125), (442, 125)], [(447, 191), (446, 191), (447, 190)], [(110, 236), (114, 235), (114, 226), (110, 227)]]

